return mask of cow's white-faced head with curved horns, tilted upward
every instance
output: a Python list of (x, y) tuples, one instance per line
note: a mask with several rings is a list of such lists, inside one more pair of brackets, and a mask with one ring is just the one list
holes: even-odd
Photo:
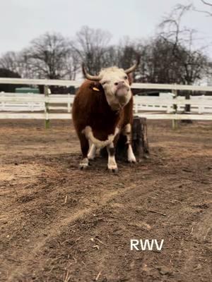
[(112, 110), (116, 111), (125, 106), (131, 99), (129, 73), (134, 71), (138, 65), (139, 57), (134, 66), (126, 70), (113, 66), (112, 68), (103, 68), (99, 75), (90, 75), (83, 64), (83, 74), (88, 80), (100, 82), (105, 90), (107, 103)]

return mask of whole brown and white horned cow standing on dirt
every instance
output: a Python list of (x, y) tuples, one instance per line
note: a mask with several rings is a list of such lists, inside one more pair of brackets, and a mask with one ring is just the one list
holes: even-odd
[(133, 95), (130, 73), (138, 64), (139, 58), (126, 70), (113, 66), (103, 68), (98, 75), (90, 75), (82, 65), (86, 80), (78, 89), (72, 108), (73, 125), (81, 144), (81, 169), (87, 168), (89, 160), (95, 158), (96, 149), (107, 147), (107, 168), (117, 172), (115, 147), (120, 134), (126, 136), (127, 161), (136, 162), (131, 147)]

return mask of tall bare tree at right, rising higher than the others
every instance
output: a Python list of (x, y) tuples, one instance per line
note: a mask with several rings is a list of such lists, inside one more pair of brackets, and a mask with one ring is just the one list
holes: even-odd
[(195, 31), (181, 26), (182, 17), (192, 5), (177, 5), (171, 16), (160, 24), (159, 36), (172, 48), (172, 60), (180, 69), (179, 80), (183, 84), (193, 84), (200, 79), (207, 66), (206, 56), (194, 47)]

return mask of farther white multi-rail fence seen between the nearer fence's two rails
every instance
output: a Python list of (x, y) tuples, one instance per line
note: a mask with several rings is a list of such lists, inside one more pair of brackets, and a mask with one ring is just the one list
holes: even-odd
[[(64, 110), (71, 112), (74, 95), (71, 94), (0, 94), (0, 111), (43, 111), (45, 103), (50, 104), (49, 110)], [(191, 113), (212, 113), (212, 97), (199, 96), (187, 100), (184, 97), (134, 97), (134, 113), (141, 111), (162, 111), (167, 114), (175, 112), (173, 104), (177, 105), (177, 112), (184, 112), (186, 104), (191, 105)], [(66, 106), (51, 106), (51, 104), (66, 104)]]

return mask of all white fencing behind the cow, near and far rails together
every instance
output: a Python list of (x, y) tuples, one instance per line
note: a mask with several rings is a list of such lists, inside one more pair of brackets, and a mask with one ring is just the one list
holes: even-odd
[[(0, 84), (46, 85), (46, 94), (0, 93), (0, 118), (71, 118), (74, 95), (48, 94), (47, 85), (79, 86), (81, 82), (71, 80), (25, 80), (0, 78)], [(149, 119), (192, 119), (212, 121), (212, 96), (191, 96), (190, 99), (177, 97), (177, 90), (212, 92), (212, 87), (194, 85), (159, 85), (134, 83), (132, 88), (172, 90), (169, 97), (134, 97), (134, 114)], [(184, 112), (186, 104), (191, 111)], [(174, 106), (175, 105), (175, 106)], [(64, 112), (61, 112), (64, 111)]]

